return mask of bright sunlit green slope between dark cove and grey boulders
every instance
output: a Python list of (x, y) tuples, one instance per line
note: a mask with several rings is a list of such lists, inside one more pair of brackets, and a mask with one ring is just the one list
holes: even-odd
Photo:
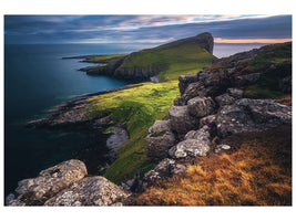
[(88, 114), (92, 117), (108, 116), (126, 125), (130, 139), (119, 151), (118, 159), (104, 175), (113, 182), (133, 177), (136, 170), (152, 167), (144, 154), (147, 129), (156, 119), (167, 115), (174, 98), (178, 96), (177, 81), (153, 84), (143, 83), (137, 87), (90, 98)]

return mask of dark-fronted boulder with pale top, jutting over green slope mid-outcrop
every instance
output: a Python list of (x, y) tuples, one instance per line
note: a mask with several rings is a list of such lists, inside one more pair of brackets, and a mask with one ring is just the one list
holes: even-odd
[(190, 116), (187, 106), (173, 106), (169, 109), (171, 129), (175, 131), (178, 138), (192, 129), (198, 128), (198, 120)]

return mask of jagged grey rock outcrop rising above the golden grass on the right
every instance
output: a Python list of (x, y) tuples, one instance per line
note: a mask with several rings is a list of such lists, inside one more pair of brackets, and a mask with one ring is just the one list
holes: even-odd
[[(155, 159), (161, 160), (161, 157), (169, 156), (171, 159), (164, 159), (166, 164), (174, 160), (172, 164), (182, 165), (191, 158), (206, 156), (210, 151), (231, 150), (231, 146), (218, 144), (218, 140), (232, 134), (262, 131), (283, 124), (290, 125), (290, 106), (279, 104), (276, 99), (244, 97), (248, 86), (257, 84), (261, 77), (273, 77), (268, 69), (275, 70), (274, 65), (268, 64), (267, 71), (263, 69), (262, 72), (252, 73), (248, 69), (251, 62), (256, 61), (262, 53), (272, 54), (274, 48), (286, 45), (290, 43), (239, 53), (217, 60), (197, 74), (180, 76), (181, 97), (174, 101), (175, 106), (169, 110), (169, 120), (165, 120), (165, 125), (170, 126), (166, 126), (165, 130), (174, 133), (175, 139), (166, 143), (165, 148), (162, 146), (164, 136), (154, 143), (147, 141), (149, 159), (154, 159), (155, 162)], [(287, 69), (284, 75), (286, 76), (279, 82), (277, 90), (290, 92), (290, 69)], [(155, 125), (149, 130), (147, 140)], [(156, 150), (161, 150), (161, 154)], [(161, 161), (156, 170), (163, 164)], [(182, 170), (184, 171), (185, 169)], [(155, 173), (152, 170), (144, 176), (144, 180), (147, 177), (150, 180), (145, 182), (145, 187), (174, 173), (176, 172)]]

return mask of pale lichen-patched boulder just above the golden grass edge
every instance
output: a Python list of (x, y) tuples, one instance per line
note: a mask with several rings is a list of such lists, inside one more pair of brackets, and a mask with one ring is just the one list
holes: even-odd
[(175, 158), (202, 157), (210, 150), (208, 141), (201, 139), (185, 139), (176, 145)]

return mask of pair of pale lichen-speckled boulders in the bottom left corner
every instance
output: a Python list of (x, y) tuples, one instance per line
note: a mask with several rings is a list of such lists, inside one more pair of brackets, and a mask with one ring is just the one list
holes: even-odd
[(85, 165), (76, 159), (42, 170), (37, 178), (19, 181), (8, 206), (111, 206), (130, 196), (103, 177), (85, 177)]

